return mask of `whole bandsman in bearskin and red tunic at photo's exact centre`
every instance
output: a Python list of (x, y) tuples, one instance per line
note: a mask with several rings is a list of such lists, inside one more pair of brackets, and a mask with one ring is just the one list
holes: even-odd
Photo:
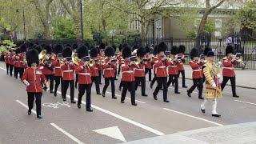
[(125, 102), (126, 92), (130, 90), (130, 100), (133, 106), (137, 106), (135, 102), (135, 78), (134, 78), (134, 68), (138, 68), (135, 62), (130, 61), (131, 48), (130, 46), (122, 47), (122, 57), (125, 59), (124, 64), (122, 64), (122, 97), (121, 103)]

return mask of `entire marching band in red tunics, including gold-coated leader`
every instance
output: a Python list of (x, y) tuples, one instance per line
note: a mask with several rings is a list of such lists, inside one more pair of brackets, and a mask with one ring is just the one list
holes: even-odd
[[(25, 44), (18, 46), (16, 50), (4, 54), (7, 74), (14, 78), (21, 78), (26, 85), (28, 95), (28, 114), (36, 102), (37, 117), (42, 118), (41, 98), (42, 90), (50, 89), (50, 93), (57, 96), (59, 85), (61, 85), (62, 99), (66, 101), (66, 91), (70, 87), (70, 102), (74, 101), (74, 89), (78, 88), (78, 108), (81, 108), (82, 96), (86, 93), (86, 110), (91, 109), (91, 87), (93, 82), (96, 87), (96, 94), (101, 94), (100, 84), (102, 77), (105, 84), (102, 90), (102, 97), (106, 97), (106, 89), (111, 86), (111, 96), (115, 95), (115, 80), (120, 75), (121, 82), (119, 90), (122, 90), (121, 103), (125, 102), (126, 92), (129, 90), (131, 104), (137, 106), (135, 102), (135, 91), (141, 86), (142, 96), (146, 94), (146, 74), (150, 87), (154, 82), (155, 87), (153, 98), (158, 100), (158, 92), (162, 90), (163, 102), (168, 100), (168, 87), (174, 86), (174, 93), (178, 91), (178, 77), (182, 74), (182, 87), (186, 88), (184, 63), (186, 59), (185, 46), (172, 46), (170, 51), (165, 42), (160, 42), (157, 46), (139, 47), (133, 49), (127, 44), (119, 46), (119, 52), (115, 52), (115, 46), (105, 46), (104, 43), (98, 47), (82, 45), (72, 50), (71, 46), (39, 46), (34, 45), (27, 48)], [(154, 50), (153, 50), (154, 49)], [(89, 52), (90, 51), (90, 52)], [(234, 97), (238, 97), (235, 90), (234, 66), (242, 62), (239, 54), (233, 54), (232, 46), (226, 46), (226, 57), (222, 62), (214, 62), (214, 51), (206, 47), (203, 54), (199, 54), (198, 49), (190, 51), (191, 61), (189, 66), (192, 69), (193, 85), (187, 90), (187, 95), (191, 97), (195, 88), (198, 88), (198, 98), (204, 99), (201, 104), (202, 113), (205, 113), (205, 105), (209, 100), (213, 101), (212, 116), (220, 117), (217, 113), (217, 98), (222, 98), (222, 90), (226, 82), (230, 80)], [(154, 55), (155, 54), (155, 55)], [(221, 65), (222, 76), (221, 78)], [(151, 71), (154, 78), (151, 79)], [(14, 72), (13, 72), (14, 71)], [(205, 98), (202, 96), (203, 83), (206, 82)], [(54, 85), (55, 83), (55, 85)], [(77, 85), (78, 84), (78, 85)]]

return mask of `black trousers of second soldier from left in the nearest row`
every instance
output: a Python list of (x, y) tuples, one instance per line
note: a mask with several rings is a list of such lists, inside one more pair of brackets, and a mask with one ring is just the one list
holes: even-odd
[(90, 108), (91, 84), (78, 84), (78, 105), (81, 105), (82, 96), (86, 92), (86, 108)]

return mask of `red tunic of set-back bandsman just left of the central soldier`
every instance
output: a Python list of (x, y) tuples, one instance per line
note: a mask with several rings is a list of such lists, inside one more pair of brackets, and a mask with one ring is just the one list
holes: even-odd
[(115, 70), (117, 69), (117, 63), (114, 62), (114, 64), (110, 64), (109, 59), (106, 59), (102, 66), (104, 78), (114, 78)]

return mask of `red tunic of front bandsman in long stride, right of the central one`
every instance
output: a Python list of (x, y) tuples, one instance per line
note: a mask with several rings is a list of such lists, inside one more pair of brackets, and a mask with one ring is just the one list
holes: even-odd
[(158, 56), (158, 61), (154, 63), (154, 70), (157, 77), (167, 77), (166, 66), (168, 66), (167, 62), (162, 62), (162, 57)]

